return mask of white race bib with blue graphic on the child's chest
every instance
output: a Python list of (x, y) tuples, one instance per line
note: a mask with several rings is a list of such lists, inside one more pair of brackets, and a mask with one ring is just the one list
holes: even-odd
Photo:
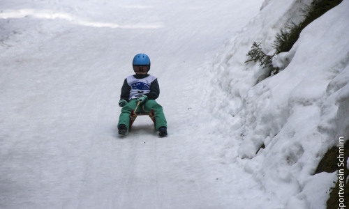
[(142, 79), (136, 79), (133, 75), (128, 76), (127, 78), (128, 86), (131, 86), (130, 98), (136, 99), (140, 96), (150, 92), (150, 84), (153, 82), (156, 77), (153, 75), (149, 75), (148, 77), (144, 77)]

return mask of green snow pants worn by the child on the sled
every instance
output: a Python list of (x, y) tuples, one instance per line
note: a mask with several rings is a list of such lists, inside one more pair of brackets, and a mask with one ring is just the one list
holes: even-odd
[[(128, 102), (124, 107), (121, 109), (121, 114), (119, 116), (119, 123), (117, 126), (119, 127), (120, 124), (124, 124), (127, 127), (127, 130), (130, 129), (130, 115), (131, 115), (131, 109), (135, 109), (137, 107), (137, 100), (133, 99)], [(161, 107), (160, 104), (158, 104), (155, 100), (147, 100), (144, 104), (140, 104), (138, 106), (138, 109), (136, 113), (140, 111), (147, 111), (150, 112), (151, 109), (154, 109), (154, 114), (155, 114), (155, 128), (158, 130), (159, 127), (165, 126), (168, 127), (165, 115), (163, 114), (163, 107)]]

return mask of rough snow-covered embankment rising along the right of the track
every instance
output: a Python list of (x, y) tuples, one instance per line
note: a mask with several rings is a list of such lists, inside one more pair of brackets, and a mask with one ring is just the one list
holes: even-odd
[(264, 79), (258, 63), (244, 63), (253, 42), (273, 53), (276, 33), (288, 20), (299, 22), (302, 7), (265, 1), (216, 57), (209, 97), (221, 104), (209, 109), (225, 121), (221, 132), (239, 141), (245, 171), (283, 207), (325, 208), (337, 176), (315, 169), (339, 137), (349, 137), (349, 1), (306, 26), (290, 52), (276, 57), (274, 63), (289, 62), (279, 74)]

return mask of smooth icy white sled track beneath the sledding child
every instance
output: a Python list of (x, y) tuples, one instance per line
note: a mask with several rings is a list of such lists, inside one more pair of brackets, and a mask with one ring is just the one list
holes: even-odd
[[(226, 164), (200, 108), (212, 56), (262, 1), (0, 3), (0, 208), (271, 206), (238, 160)], [(166, 138), (142, 117), (117, 135), (138, 53), (161, 86)]]

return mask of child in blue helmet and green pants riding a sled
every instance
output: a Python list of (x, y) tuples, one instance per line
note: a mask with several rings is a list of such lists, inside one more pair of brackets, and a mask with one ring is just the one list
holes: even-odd
[[(163, 114), (163, 107), (155, 100), (160, 94), (158, 79), (149, 75), (150, 59), (147, 54), (137, 54), (133, 58), (133, 70), (135, 75), (126, 77), (121, 88), (119, 106), (122, 107), (117, 125), (119, 134), (126, 134), (130, 124), (131, 109), (135, 109), (138, 102), (141, 111), (151, 111), (154, 109), (156, 130), (161, 137), (165, 137), (167, 132), (167, 122)], [(137, 111), (138, 111), (137, 109)]]

